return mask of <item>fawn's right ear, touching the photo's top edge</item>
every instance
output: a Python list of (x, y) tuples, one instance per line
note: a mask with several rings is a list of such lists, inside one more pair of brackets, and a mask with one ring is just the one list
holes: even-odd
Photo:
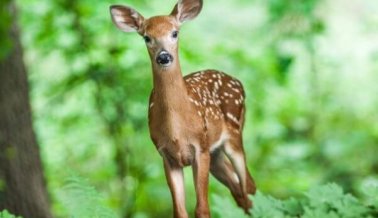
[(171, 16), (174, 16), (181, 24), (197, 17), (201, 9), (202, 0), (179, 0), (173, 8)]

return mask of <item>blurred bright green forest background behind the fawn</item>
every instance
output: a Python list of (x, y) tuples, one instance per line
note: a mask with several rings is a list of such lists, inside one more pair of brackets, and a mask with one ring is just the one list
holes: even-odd
[[(150, 17), (175, 3), (17, 0), (56, 217), (77, 213), (71, 210), (80, 198), (64, 188), (77, 177), (118, 216), (170, 216), (147, 128), (147, 50), (136, 33), (115, 28), (109, 6)], [(182, 27), (180, 58), (183, 72), (215, 68), (243, 82), (244, 146), (260, 191), (286, 198), (335, 182), (361, 196), (378, 184), (378, 1), (205, 0)], [(189, 168), (185, 183), (193, 211)], [(214, 178), (210, 191), (231, 199)]]

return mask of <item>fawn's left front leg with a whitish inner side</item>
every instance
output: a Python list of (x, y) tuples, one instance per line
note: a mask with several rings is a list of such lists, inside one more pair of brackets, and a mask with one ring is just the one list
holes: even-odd
[(184, 174), (181, 167), (164, 158), (164, 171), (173, 200), (175, 218), (188, 218), (185, 208)]

